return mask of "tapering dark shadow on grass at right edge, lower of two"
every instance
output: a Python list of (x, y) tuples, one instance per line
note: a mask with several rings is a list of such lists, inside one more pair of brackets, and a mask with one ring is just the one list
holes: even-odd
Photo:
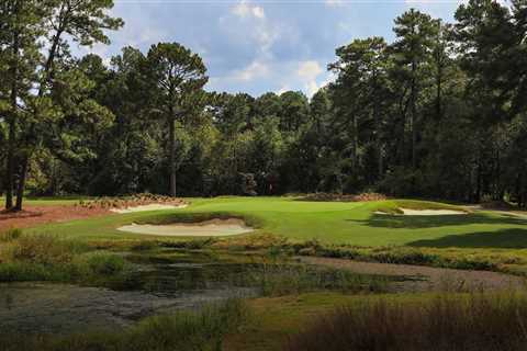
[(526, 249), (527, 226), (525, 229), (516, 228), (497, 231), (450, 235), (438, 239), (417, 240), (407, 245), (428, 248)]

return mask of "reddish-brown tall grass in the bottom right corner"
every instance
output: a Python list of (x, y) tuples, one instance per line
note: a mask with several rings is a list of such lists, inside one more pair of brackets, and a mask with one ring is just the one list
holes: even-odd
[(526, 325), (525, 294), (444, 294), (418, 304), (383, 299), (317, 318), (287, 349), (519, 351), (527, 349)]

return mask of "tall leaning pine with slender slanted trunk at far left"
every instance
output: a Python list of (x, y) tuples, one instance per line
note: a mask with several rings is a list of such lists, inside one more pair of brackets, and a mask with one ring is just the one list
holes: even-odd
[[(56, 123), (61, 115), (60, 107), (54, 103), (52, 95), (58, 82), (61, 65), (69, 53), (69, 42), (66, 36), (79, 45), (108, 44), (110, 41), (104, 34), (104, 30), (116, 30), (123, 25), (121, 19), (106, 14), (106, 11), (112, 7), (113, 0), (48, 0), (38, 2), (38, 9), (42, 9), (38, 25), (45, 30), (42, 38), (47, 52), (43, 56), (41, 65), (37, 66), (36, 79), (32, 81), (36, 95), (27, 101), (31, 115), (23, 127), (20, 143), (24, 147), (20, 152), (21, 170), (15, 210), (22, 210), (31, 157), (42, 144), (42, 136), (46, 135), (48, 125)], [(59, 81), (60, 84), (70, 82)]]

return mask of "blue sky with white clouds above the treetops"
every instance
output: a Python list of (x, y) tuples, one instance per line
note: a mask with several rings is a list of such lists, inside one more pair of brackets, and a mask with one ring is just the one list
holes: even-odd
[(393, 39), (393, 19), (411, 7), (452, 20), (456, 0), (115, 0), (125, 21), (110, 46), (91, 50), (105, 58), (123, 46), (145, 53), (158, 42), (179, 42), (199, 53), (208, 90), (248, 92), (302, 90), (311, 95), (330, 78), (335, 48), (354, 38)]

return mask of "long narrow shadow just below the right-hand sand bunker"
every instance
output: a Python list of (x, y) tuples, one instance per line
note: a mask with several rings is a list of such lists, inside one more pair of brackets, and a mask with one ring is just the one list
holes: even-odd
[(489, 216), (486, 214), (445, 215), (445, 216), (401, 216), (374, 214), (368, 219), (346, 219), (368, 227), (377, 228), (434, 228), (446, 226), (479, 225), (525, 225), (527, 219), (513, 215)]

